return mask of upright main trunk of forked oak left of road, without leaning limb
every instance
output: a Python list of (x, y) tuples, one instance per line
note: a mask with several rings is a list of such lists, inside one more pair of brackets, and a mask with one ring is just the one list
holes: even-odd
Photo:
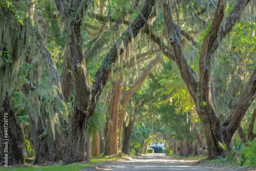
[[(86, 62), (82, 52), (80, 29), (82, 15), (85, 13), (83, 9), (87, 9), (87, 3), (87, 1), (81, 4), (79, 1), (73, 1), (69, 5), (66, 1), (56, 1), (56, 6), (65, 23), (67, 50), (70, 57), (70, 66), (72, 66), (71, 71), (75, 89), (69, 136), (65, 147), (63, 164), (82, 161), (86, 157), (84, 147), (86, 126), (90, 117), (88, 115), (90, 86), (87, 78)], [(83, 5), (84, 8), (79, 8), (81, 5)], [(72, 16), (76, 17), (72, 18)]]

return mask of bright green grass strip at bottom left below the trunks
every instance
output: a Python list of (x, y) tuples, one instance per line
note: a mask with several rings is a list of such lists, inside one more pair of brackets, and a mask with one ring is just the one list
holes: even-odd
[(84, 163), (84, 164), (67, 164), (67, 165), (54, 165), (54, 166), (37, 166), (37, 165), (28, 165), (26, 167), (18, 168), (18, 167), (10, 167), (10, 168), (5, 168), (3, 170), (15, 170), (15, 171), (32, 171), (32, 170), (46, 170), (46, 171), (58, 171), (58, 170), (65, 170), (65, 171), (73, 171), (73, 170), (79, 170), (83, 168), (90, 168), (93, 167), (94, 164), (90, 163)]

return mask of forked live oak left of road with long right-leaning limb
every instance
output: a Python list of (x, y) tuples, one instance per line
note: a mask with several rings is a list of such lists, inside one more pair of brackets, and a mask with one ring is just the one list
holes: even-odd
[[(93, 115), (97, 100), (108, 81), (113, 65), (118, 55), (136, 37), (145, 25), (155, 1), (146, 1), (140, 15), (127, 27), (104, 57), (100, 68), (95, 74), (92, 88), (89, 84), (86, 70), (86, 60), (82, 52), (81, 20), (86, 14), (89, 1), (56, 1), (56, 6), (62, 15), (67, 33), (68, 52), (70, 54), (71, 71), (74, 80), (73, 112), (70, 121), (69, 137), (66, 143), (63, 163), (73, 163), (84, 160), (84, 142), (86, 126)], [(121, 46), (122, 44), (122, 46)], [(118, 54), (119, 53), (119, 54)]]

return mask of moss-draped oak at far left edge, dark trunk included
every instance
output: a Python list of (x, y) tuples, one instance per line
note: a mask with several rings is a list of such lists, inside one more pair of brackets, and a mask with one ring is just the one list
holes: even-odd
[[(11, 106), (10, 98), (14, 91), (13, 84), (17, 80), (15, 71), (16, 68), (19, 67), (21, 60), (20, 54), (24, 53), (23, 48), (26, 45), (27, 27), (17, 22), (13, 12), (15, 11), (11, 11), (7, 6), (3, 7), (1, 5), (0, 7), (0, 165), (24, 163), (24, 134), (17, 120), (15, 111)], [(17, 34), (17, 32), (19, 34)], [(7, 124), (5, 124), (6, 122), (4, 121), (5, 113), (8, 113), (8, 115), (6, 115), (8, 120)], [(7, 126), (8, 130), (4, 130), (4, 125)], [(7, 134), (5, 135), (5, 133)], [(4, 139), (8, 139), (8, 163), (4, 163), (6, 154), (6, 152), (4, 152)]]

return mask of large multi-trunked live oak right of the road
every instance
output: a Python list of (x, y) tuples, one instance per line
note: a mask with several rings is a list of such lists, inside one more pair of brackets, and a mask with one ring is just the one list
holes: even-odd
[[(175, 1), (176, 2), (176, 1)], [(203, 39), (200, 49), (199, 71), (200, 79), (196, 81), (189, 67), (181, 46), (181, 26), (179, 25), (179, 12), (177, 14), (177, 24), (173, 19), (172, 4), (170, 1), (162, 1), (161, 9), (163, 11), (165, 37), (168, 46), (171, 48), (181, 77), (186, 83), (188, 92), (197, 106), (197, 112), (203, 125), (204, 134), (208, 145), (208, 158), (213, 159), (217, 156), (223, 156), (224, 151), (219, 147), (219, 141), (227, 144), (230, 150), (230, 140), (234, 132), (237, 130), (250, 101), (255, 93), (256, 88), (256, 70), (251, 74), (246, 84), (244, 92), (236, 105), (236, 109), (225, 121), (220, 124), (220, 119), (216, 116), (214, 106), (212, 105), (210, 95), (210, 61), (211, 55), (218, 48), (220, 42), (231, 30), (234, 24), (241, 16), (250, 1), (238, 1), (233, 10), (229, 12), (225, 19), (225, 25), (222, 22), (225, 14), (225, 3), (219, 1), (215, 11), (214, 18), (211, 21), (207, 35)], [(177, 4), (174, 4), (177, 9)]]

